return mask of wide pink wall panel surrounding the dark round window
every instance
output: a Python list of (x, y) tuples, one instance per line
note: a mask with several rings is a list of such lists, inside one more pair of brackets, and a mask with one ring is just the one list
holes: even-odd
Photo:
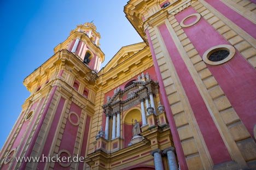
[[(185, 16), (195, 13), (191, 7), (176, 15), (180, 22)], [(195, 29), (196, 28), (196, 29)], [(184, 28), (190, 41), (199, 52), (200, 56), (213, 46), (229, 44), (222, 35), (205, 19), (201, 18), (196, 25)], [(199, 41), (200, 40), (200, 41)], [(207, 68), (216, 78), (219, 86), (228, 97), (232, 107), (241, 118), (243, 124), (253, 136), (253, 126), (256, 120), (256, 71), (241, 54), (236, 51), (235, 56), (221, 65), (208, 65)]]

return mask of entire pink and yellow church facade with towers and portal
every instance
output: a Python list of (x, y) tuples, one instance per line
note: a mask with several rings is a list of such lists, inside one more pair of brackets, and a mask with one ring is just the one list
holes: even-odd
[(143, 43), (100, 70), (101, 35), (84, 23), (25, 78), (0, 168), (256, 169), (255, 1), (131, 0), (124, 12)]

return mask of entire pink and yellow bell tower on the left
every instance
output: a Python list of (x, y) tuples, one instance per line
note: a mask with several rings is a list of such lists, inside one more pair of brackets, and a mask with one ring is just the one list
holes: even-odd
[[(85, 169), (104, 53), (93, 23), (71, 31), (24, 80), (31, 93), (0, 153), (0, 169)], [(57, 161), (82, 156), (82, 161)], [(37, 160), (20, 160), (20, 159)]]

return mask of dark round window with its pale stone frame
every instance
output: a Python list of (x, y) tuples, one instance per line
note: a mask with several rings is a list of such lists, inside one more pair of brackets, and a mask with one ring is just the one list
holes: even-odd
[(235, 48), (231, 45), (217, 45), (203, 53), (203, 61), (210, 65), (219, 65), (228, 62), (235, 55)]

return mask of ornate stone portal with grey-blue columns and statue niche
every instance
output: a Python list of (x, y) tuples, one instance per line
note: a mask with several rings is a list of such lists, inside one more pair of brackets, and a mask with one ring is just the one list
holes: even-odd
[[(101, 129), (98, 132), (94, 143), (95, 151), (88, 155), (85, 162), (93, 169), (120, 169), (130, 159), (139, 159), (154, 153), (152, 156), (158, 169), (163, 167), (161, 156), (165, 155), (165, 159), (172, 163), (175, 159), (171, 151), (164, 155), (159, 154), (173, 147), (173, 143), (165, 108), (160, 103), (155, 105), (158, 95), (158, 82), (151, 80), (148, 73), (142, 73), (130, 86), (123, 90), (118, 87), (112, 97), (107, 96), (107, 102), (102, 106), (106, 116), (105, 128), (104, 131)], [(130, 120), (131, 124), (126, 124)], [(131, 138), (126, 132), (131, 133)], [(118, 160), (121, 157), (124, 159), (122, 165), (114, 161), (108, 167), (103, 166), (110, 160)], [(142, 159), (149, 158), (146, 156)], [(175, 163), (176, 161), (172, 164), (177, 165)]]

